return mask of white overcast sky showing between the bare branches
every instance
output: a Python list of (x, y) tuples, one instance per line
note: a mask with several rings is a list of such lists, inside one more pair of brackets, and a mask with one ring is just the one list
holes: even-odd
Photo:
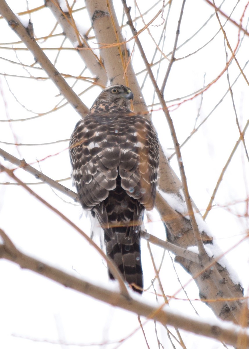
[[(43, 5), (43, 1), (31, 0), (28, 3), (30, 9)], [(122, 18), (120, 3), (115, 2), (115, 5), (117, 6), (118, 17)], [(132, 1), (127, 3), (128, 6), (132, 6), (134, 9)], [(139, 0), (137, 3), (142, 13), (151, 6), (151, 3), (146, 1)], [(236, 22), (239, 22), (246, 3), (246, 1), (241, 0), (235, 8), (231, 17)], [(25, 11), (27, 8), (27, 3), (24, 0), (9, 0), (8, 4), (16, 13)], [(217, 2), (216, 5), (218, 6), (219, 3)], [(226, 0), (224, 5), (222, 5), (222, 10), (229, 15), (235, 5), (236, 1)], [(76, 1), (75, 8), (83, 6), (84, 2), (82, 0)], [(180, 6), (180, 2), (173, 1), (168, 19), (165, 47), (163, 49), (165, 54), (171, 52), (173, 48)], [(161, 3), (152, 12), (144, 16), (146, 23), (149, 22), (160, 7)], [(190, 38), (212, 13), (213, 9), (204, 0), (187, 1), (184, 8), (178, 45)], [(247, 10), (242, 21), (244, 28), (247, 25), (248, 14)], [(136, 15), (138, 15), (137, 11)], [(164, 11), (163, 18), (166, 18), (166, 15), (167, 9)], [(25, 17), (24, 20), (27, 21), (28, 15), (22, 17)], [(82, 30), (89, 28), (90, 21), (85, 10), (75, 13), (75, 19)], [(220, 19), (223, 24), (225, 22), (224, 17), (220, 16)], [(32, 13), (31, 20), (36, 37), (49, 35), (55, 25), (55, 19), (47, 8)], [(157, 42), (163, 27), (162, 22), (163, 20), (159, 16), (154, 23), (157, 26), (150, 26), (151, 34)], [(142, 22), (138, 21), (137, 28), (140, 29), (142, 26)], [(193, 39), (176, 51), (176, 58), (185, 57), (195, 52), (209, 42), (218, 30), (219, 24), (214, 15)], [(238, 39), (238, 30), (230, 23), (225, 26), (225, 30), (229, 43), (234, 49)], [(19, 41), (19, 38), (3, 19), (0, 20), (0, 33), (0, 73), (28, 76), (28, 78), (17, 78), (16, 76), (6, 76), (5, 78), (3, 75), (0, 75), (0, 110), (2, 111), (0, 116), (0, 142), (33, 144), (68, 139), (77, 120), (80, 118), (69, 105), (35, 119), (3, 122), (3, 120), (7, 119), (31, 118), (36, 116), (37, 113), (50, 111), (62, 98), (58, 96), (58, 90), (51, 81), (32, 79), (26, 68), (2, 59), (6, 58), (17, 62), (19, 60), (24, 64), (32, 64), (34, 62), (33, 56), (29, 52), (5, 49), (5, 47), (25, 46), (13, 44), (13, 42)], [(54, 33), (61, 33), (61, 28), (57, 27)], [(127, 38), (131, 36), (128, 27), (124, 28), (123, 33)], [(92, 32), (90, 35), (92, 35)], [(240, 38), (242, 36), (241, 33)], [(147, 31), (144, 31), (139, 37), (144, 44), (147, 58), (151, 61), (155, 45)], [(63, 37), (59, 36), (45, 42), (40, 40), (39, 44), (43, 47), (59, 47), (62, 40)], [(95, 38), (91, 39), (90, 44), (92, 42), (95, 43), (95, 41)], [(4, 45), (3, 43), (12, 44)], [(72, 47), (68, 41), (63, 46)], [(132, 42), (129, 43), (129, 47), (132, 50)], [(231, 57), (231, 52), (228, 49), (227, 51), (229, 58)], [(54, 62), (58, 52), (45, 50), (45, 53)], [(157, 53), (156, 57), (156, 60), (158, 60), (160, 54)], [(243, 38), (236, 57), (241, 67), (243, 67), (249, 59), (248, 37)], [(133, 55), (133, 64), (136, 72), (144, 69), (142, 58), (137, 49), (135, 49)], [(171, 117), (173, 118), (180, 143), (193, 130), (200, 105), (201, 109), (197, 125), (210, 114), (223, 98), (228, 89), (227, 74), (223, 74), (215, 84), (205, 91), (202, 102), (201, 96), (198, 96), (183, 103), (177, 109), (172, 105), (178, 103), (176, 99), (179, 97), (181, 101), (187, 99), (188, 97), (184, 96), (189, 94), (192, 97), (194, 91), (203, 87), (204, 76), (205, 85), (207, 85), (222, 72), (225, 65), (224, 37), (221, 32), (202, 50), (173, 64), (165, 89), (165, 98), (171, 111)], [(36, 67), (39, 67), (39, 65), (36, 65)], [(62, 73), (78, 76), (83, 70), (84, 64), (82, 64), (76, 51), (62, 50), (58, 56), (56, 68)], [(157, 69), (158, 66), (153, 68), (155, 75), (157, 74)], [(158, 77), (159, 86), (164, 78), (166, 69), (167, 62), (163, 61)], [(32, 76), (46, 76), (42, 70), (29, 68), (28, 71)], [(239, 73), (239, 68), (235, 62), (232, 62), (232, 65), (229, 67), (231, 84)], [(248, 67), (245, 68), (244, 73), (249, 75)], [(83, 75), (91, 76), (88, 70)], [(140, 84), (142, 84), (143, 79), (144, 74), (138, 75)], [(75, 79), (67, 79), (67, 82), (72, 85)], [(89, 86), (89, 82), (80, 80), (77, 82), (74, 90), (80, 93)], [(100, 89), (97, 87), (88, 91), (81, 96), (83, 102), (90, 107), (99, 91)], [(150, 105), (153, 102), (153, 90), (148, 79), (143, 88), (143, 95), (147, 104)], [(243, 128), (248, 119), (249, 99), (247, 98), (248, 84), (242, 77), (239, 77), (233, 87), (233, 96), (239, 123), (241, 128)], [(157, 128), (159, 139), (167, 154), (172, 154), (173, 142), (165, 117), (158, 110), (159, 106), (155, 106), (154, 109), (156, 111), (153, 112), (153, 122)], [(236, 126), (231, 95), (228, 93), (199, 131), (182, 148), (182, 158), (190, 195), (202, 214), (205, 212), (220, 172), (238, 138), (239, 131)], [(246, 135), (246, 142), (247, 139)], [(70, 176), (68, 142), (44, 146), (18, 147), (0, 143), (0, 147), (20, 159), (24, 158), (25, 161), (37, 169), (40, 166), (42, 172), (55, 180)], [(39, 165), (37, 160), (40, 161)], [(0, 163), (9, 168), (14, 167), (2, 158), (0, 158)], [(175, 157), (173, 157), (171, 165), (176, 173), (179, 173)], [(248, 201), (246, 201), (248, 200), (248, 170), (249, 164), (245, 151), (240, 145), (219, 187), (214, 200), (215, 206), (206, 219), (215, 243), (224, 252), (231, 249), (244, 238), (248, 231)], [(17, 169), (15, 174), (25, 183), (37, 181), (22, 169)], [(10, 179), (5, 174), (0, 174), (1, 183), (9, 181)], [(72, 188), (70, 180), (64, 181), (62, 184)], [(54, 193), (45, 184), (31, 185), (31, 188), (85, 232), (89, 233), (90, 222), (84, 216), (80, 218), (80, 206), (72, 204), (71, 200), (66, 196), (57, 192)], [(156, 211), (152, 211), (151, 218), (153, 222), (146, 225), (148, 231), (161, 239), (165, 239), (165, 232)], [(56, 217), (47, 207), (42, 206), (23, 188), (15, 185), (0, 185), (0, 227), (24, 253), (76, 276), (82, 276), (84, 279), (91, 280), (94, 283), (108, 284), (110, 286), (106, 267), (97, 252), (61, 218)], [(151, 249), (156, 265), (159, 267), (163, 251), (161, 248), (153, 245), (151, 245)], [(243, 243), (238, 244), (229, 253), (226, 253), (226, 259), (230, 266), (234, 268), (241, 284), (245, 288), (245, 295), (248, 296), (248, 240), (243, 240)], [(146, 288), (149, 287), (151, 280), (154, 278), (154, 270), (144, 240), (142, 240), (142, 263)], [(175, 263), (174, 267), (179, 274), (181, 283), (187, 283), (190, 280), (190, 276), (178, 264)], [(172, 295), (181, 289), (175, 270), (171, 258), (166, 252), (160, 276), (167, 295)], [(4, 260), (0, 260), (0, 280), (1, 348), (50, 349), (61, 347), (64, 349), (77, 348), (77, 346), (73, 345), (76, 343), (84, 345), (83, 348), (147, 348), (135, 314), (115, 309), (78, 292), (65, 289), (55, 282), (46, 280), (44, 277), (27, 270), (21, 270), (20, 267)], [(159, 292), (157, 283), (155, 283), (155, 287)], [(198, 299), (198, 289), (193, 281), (189, 283), (185, 290), (190, 299)], [(183, 291), (180, 291), (177, 296), (178, 298), (186, 299)], [(144, 293), (143, 298), (155, 300), (152, 288)], [(212, 311), (199, 300), (194, 300), (193, 305), (202, 319), (214, 318)], [(186, 300), (173, 299), (170, 302), (170, 306), (172, 309), (181, 310), (183, 314), (194, 314), (193, 308)], [(158, 348), (154, 322), (146, 321), (146, 319), (142, 319), (142, 322), (145, 324), (144, 331), (150, 348)], [(167, 339), (165, 328), (160, 326), (160, 324), (156, 326), (160, 342), (164, 348), (170, 347), (171, 344)], [(133, 334), (136, 328), (137, 331)], [(170, 331), (174, 333), (174, 329), (170, 328)], [(188, 349), (196, 348), (196, 343), (198, 343), (198, 347), (202, 346), (203, 348), (223, 348), (223, 345), (217, 341), (198, 337), (184, 331), (180, 332)], [(122, 338), (127, 339), (119, 344), (118, 341)], [(60, 344), (60, 341), (62, 344)], [(104, 345), (96, 344), (105, 342), (106, 344)], [(72, 345), (66, 346), (66, 343)], [(96, 346), (93, 345), (94, 343)], [(175, 341), (174, 344), (176, 348), (180, 348)]]

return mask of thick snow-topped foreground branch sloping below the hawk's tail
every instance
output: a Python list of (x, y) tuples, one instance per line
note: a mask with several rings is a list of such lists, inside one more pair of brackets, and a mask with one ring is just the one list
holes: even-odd
[[(182, 328), (192, 333), (214, 338), (234, 346), (236, 345), (238, 349), (249, 348), (249, 333), (242, 327), (235, 325), (229, 325), (228, 327), (227, 324), (223, 325), (220, 322), (214, 322), (214, 324), (211, 325), (204, 321), (191, 319), (189, 316), (179, 315), (169, 307), (166, 308), (165, 305), (149, 305), (140, 299), (138, 300), (138, 297), (136, 297), (136, 299), (133, 297), (127, 299), (119, 292), (110, 291), (109, 289), (93, 285), (83, 279), (78, 279), (40, 260), (31, 258), (20, 251), (18, 251), (16, 255), (10, 254), (9, 251), (6, 250), (5, 245), (0, 245), (0, 258), (15, 262), (20, 265), (21, 268), (32, 270), (65, 287), (91, 296), (92, 298), (99, 299), (107, 304), (145, 316), (148, 319), (159, 321), (164, 326), (171, 325)], [(240, 347), (237, 346), (238, 343), (241, 344)]]

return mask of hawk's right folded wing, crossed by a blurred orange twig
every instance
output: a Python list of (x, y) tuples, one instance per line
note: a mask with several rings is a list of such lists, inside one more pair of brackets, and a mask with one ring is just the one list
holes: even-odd
[[(131, 116), (126, 141), (120, 144), (121, 186), (147, 210), (154, 207), (159, 165), (158, 138), (151, 123), (140, 115)], [(131, 147), (127, 147), (131, 144)]]

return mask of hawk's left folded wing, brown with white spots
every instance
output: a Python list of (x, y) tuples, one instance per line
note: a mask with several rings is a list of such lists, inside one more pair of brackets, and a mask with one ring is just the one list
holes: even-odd
[(120, 163), (118, 144), (109, 132), (111, 125), (106, 128), (99, 119), (90, 115), (80, 120), (69, 142), (73, 181), (86, 210), (103, 202), (116, 187)]

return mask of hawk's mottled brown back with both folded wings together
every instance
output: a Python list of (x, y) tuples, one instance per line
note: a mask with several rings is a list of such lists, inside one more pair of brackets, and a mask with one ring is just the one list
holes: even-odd
[(89, 115), (75, 127), (69, 144), (73, 179), (85, 209), (121, 186), (146, 209), (154, 205), (159, 151), (151, 123), (140, 115)]

